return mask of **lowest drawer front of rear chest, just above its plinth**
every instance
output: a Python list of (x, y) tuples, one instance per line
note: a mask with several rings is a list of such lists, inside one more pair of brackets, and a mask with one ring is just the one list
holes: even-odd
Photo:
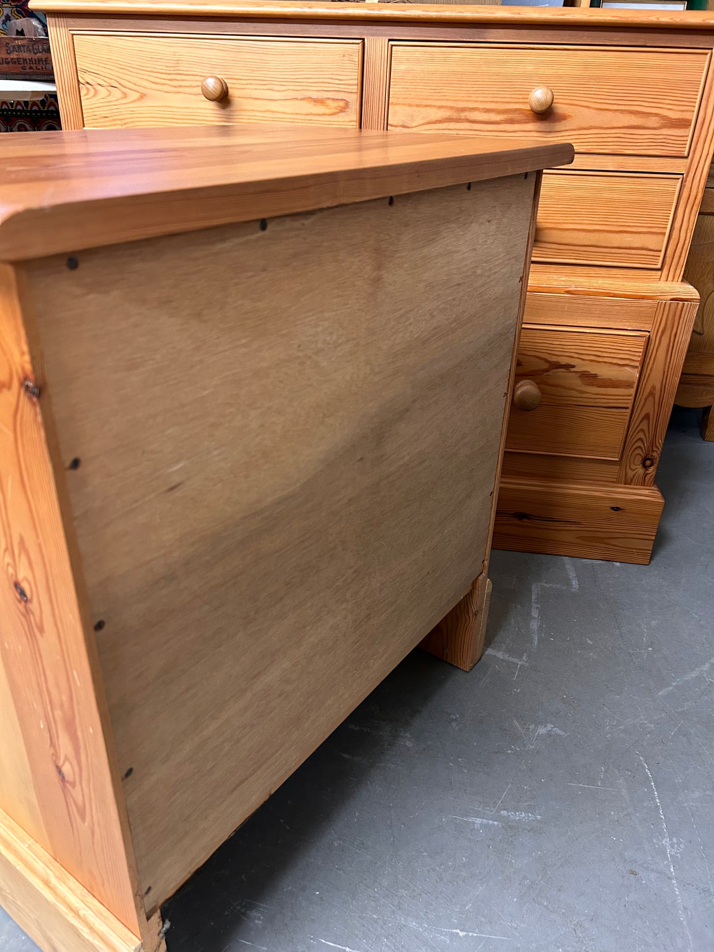
[(506, 449), (616, 460), (637, 388), (647, 334), (524, 327), (516, 387), (534, 381), (532, 410), (511, 405)]

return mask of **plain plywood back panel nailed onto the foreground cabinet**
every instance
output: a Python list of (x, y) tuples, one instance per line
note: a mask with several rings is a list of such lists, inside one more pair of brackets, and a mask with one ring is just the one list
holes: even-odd
[(149, 905), (481, 572), (532, 191), (29, 266)]

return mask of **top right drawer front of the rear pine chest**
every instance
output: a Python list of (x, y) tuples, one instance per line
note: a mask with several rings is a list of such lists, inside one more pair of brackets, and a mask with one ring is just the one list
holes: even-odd
[[(393, 43), (388, 128), (684, 156), (708, 62), (706, 50)], [(528, 105), (539, 87), (554, 96), (542, 113)]]

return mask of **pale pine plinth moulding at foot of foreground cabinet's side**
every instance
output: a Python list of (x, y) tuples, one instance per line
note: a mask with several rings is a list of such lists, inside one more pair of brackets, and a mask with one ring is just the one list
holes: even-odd
[(137, 952), (109, 909), (0, 810), (0, 902), (51, 952)]

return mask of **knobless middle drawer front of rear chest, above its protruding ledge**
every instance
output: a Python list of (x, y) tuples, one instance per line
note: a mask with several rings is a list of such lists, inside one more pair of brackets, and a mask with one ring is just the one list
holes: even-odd
[(680, 175), (549, 171), (533, 261), (660, 268)]

